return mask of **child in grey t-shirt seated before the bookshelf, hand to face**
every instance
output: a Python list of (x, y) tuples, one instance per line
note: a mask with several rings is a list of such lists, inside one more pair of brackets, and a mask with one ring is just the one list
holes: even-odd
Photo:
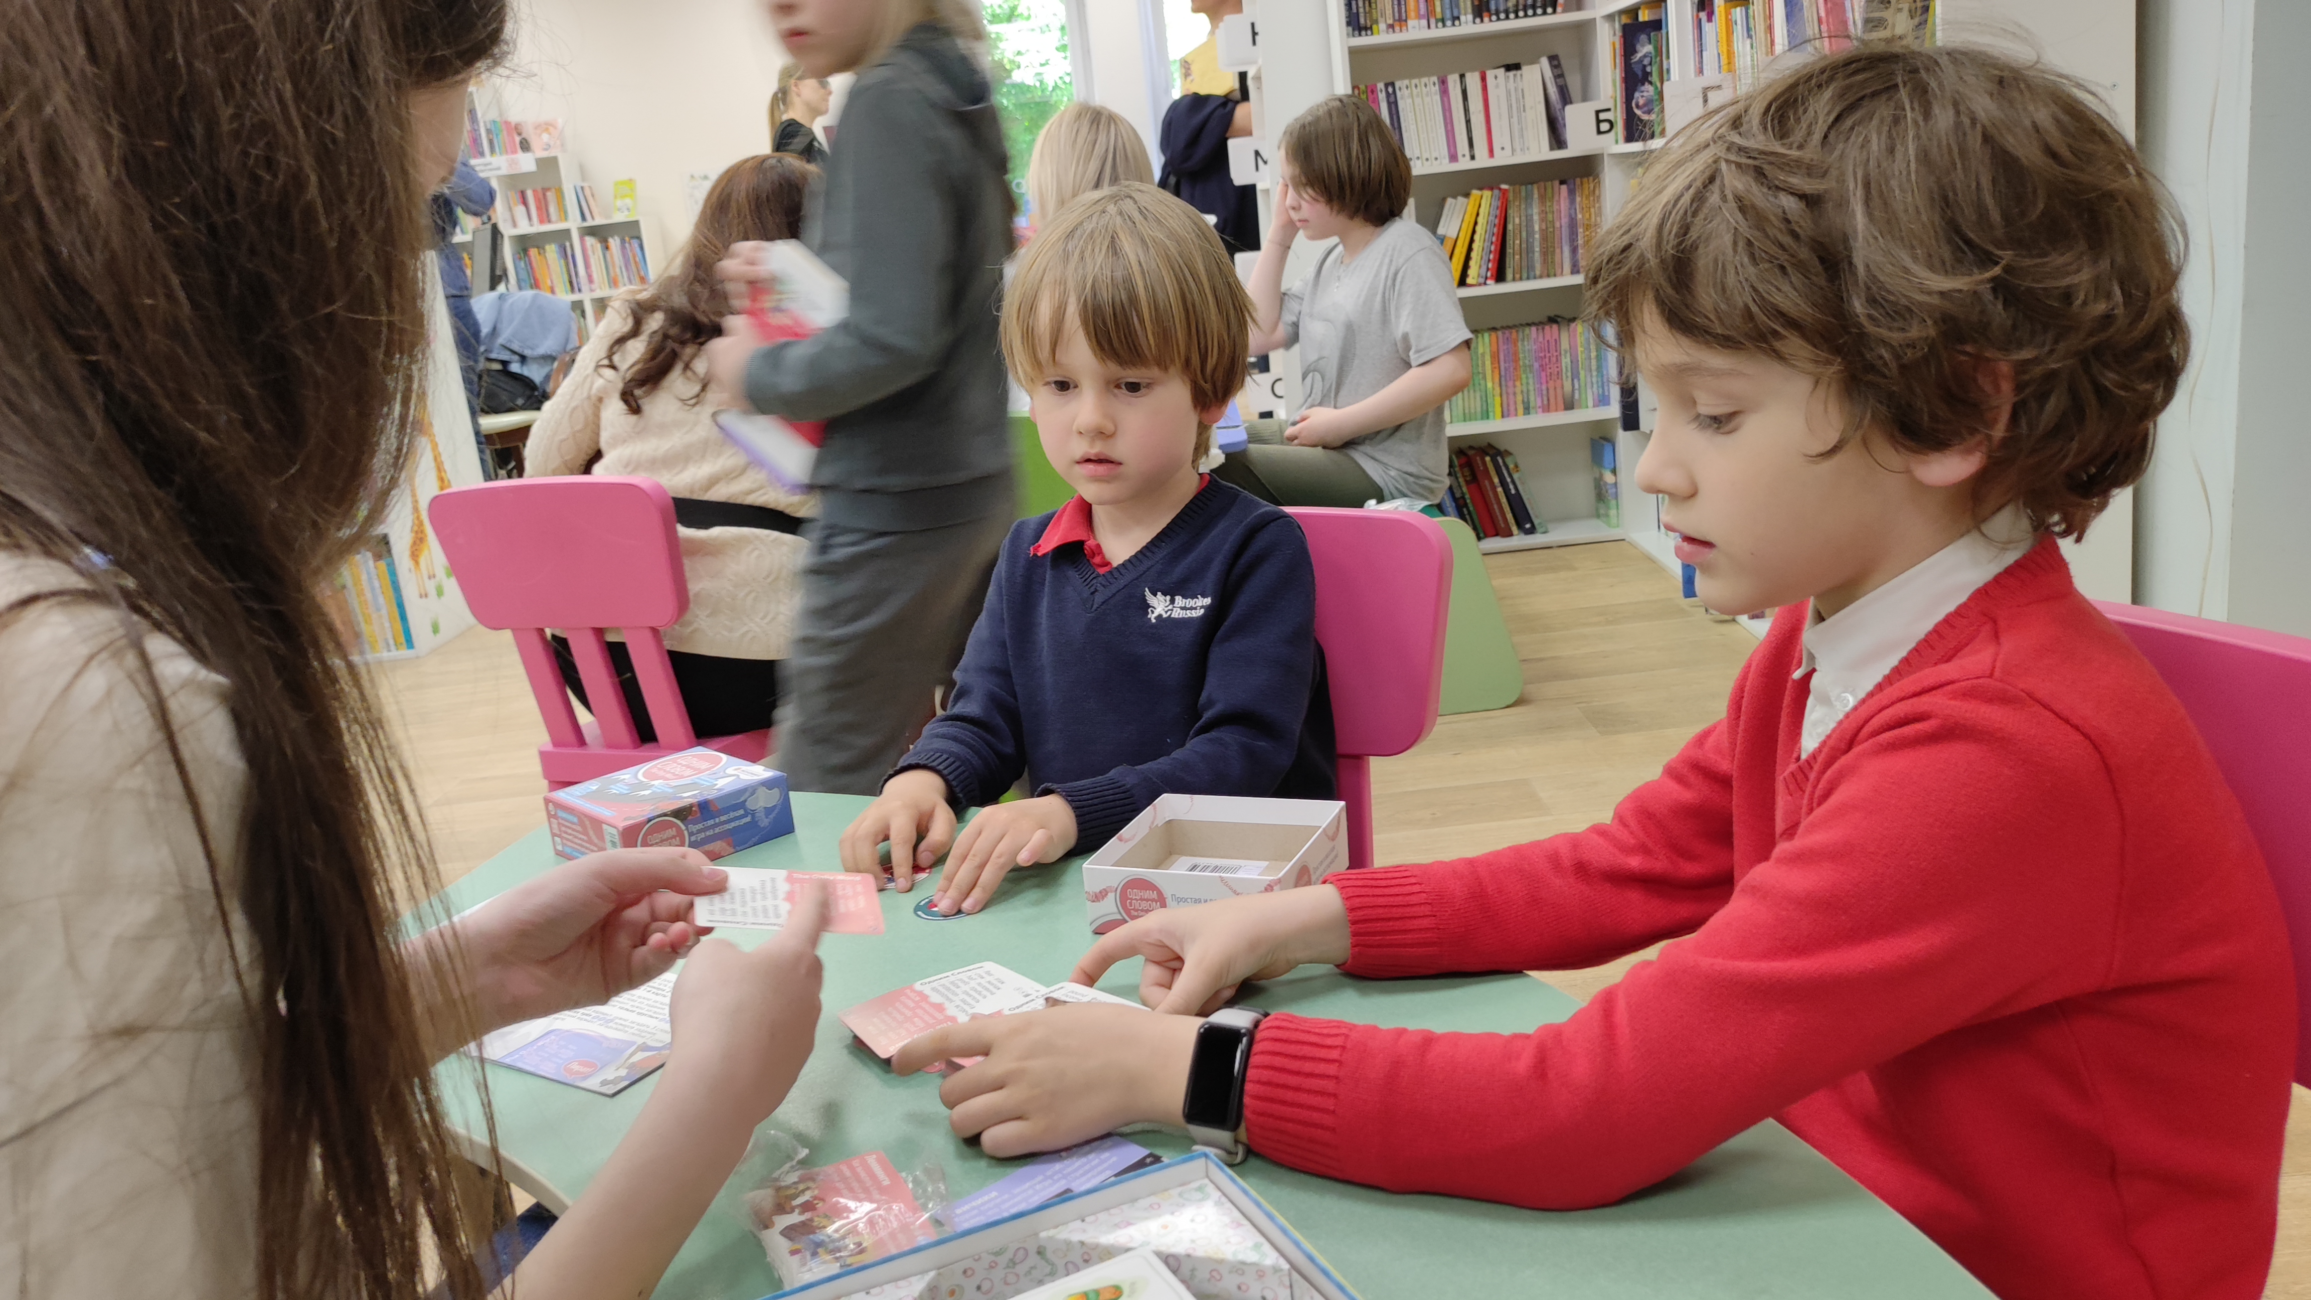
[[(1253, 444), (1216, 472), (1278, 504), (1361, 507), (1444, 495), (1444, 402), (1467, 386), (1467, 324), (1435, 236), (1405, 220), (1412, 164), (1387, 123), (1333, 95), (1285, 127), (1276, 222), (1253, 268), (1250, 349), (1299, 345), (1301, 409), (1285, 444)], [(1306, 231), (1338, 238), (1283, 291)]]

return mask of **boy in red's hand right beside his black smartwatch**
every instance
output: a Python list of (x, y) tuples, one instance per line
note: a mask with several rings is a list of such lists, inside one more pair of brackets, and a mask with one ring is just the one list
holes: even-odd
[(948, 1124), (961, 1138), (978, 1133), (991, 1157), (1024, 1157), (1135, 1122), (1176, 1127), (1199, 1025), (1130, 1006), (1049, 1006), (931, 1029), (890, 1066), (915, 1073), (950, 1057), (987, 1057), (938, 1085)]

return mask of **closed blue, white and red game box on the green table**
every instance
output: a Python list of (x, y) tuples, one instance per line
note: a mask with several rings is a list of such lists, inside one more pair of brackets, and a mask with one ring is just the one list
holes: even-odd
[(709, 858), (795, 833), (786, 773), (693, 747), (545, 796), (555, 854), (691, 847)]

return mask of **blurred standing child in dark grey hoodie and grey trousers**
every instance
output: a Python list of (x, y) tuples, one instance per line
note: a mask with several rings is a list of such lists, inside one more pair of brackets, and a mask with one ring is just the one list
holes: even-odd
[[(957, 0), (772, 0), (809, 76), (857, 72), (802, 241), (850, 282), (850, 317), (758, 347), (742, 319), (707, 347), (728, 400), (827, 421), (820, 520), (779, 706), (795, 789), (876, 793), (961, 657), (1012, 523), (996, 338), (1012, 194), (984, 39)], [(760, 248), (721, 264), (767, 280)]]

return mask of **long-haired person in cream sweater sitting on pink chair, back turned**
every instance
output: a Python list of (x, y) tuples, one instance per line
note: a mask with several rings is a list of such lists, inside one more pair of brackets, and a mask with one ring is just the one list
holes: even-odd
[[(640, 474), (675, 497), (691, 608), (666, 629), (675, 685), (698, 736), (772, 724), (779, 659), (802, 594), (802, 518), (818, 511), (756, 470), (714, 428), (700, 349), (721, 338), (723, 287), (714, 264), (749, 238), (795, 238), (802, 194), (818, 169), (783, 153), (733, 162), (707, 190), (691, 238), (656, 285), (612, 298), (571, 377), (529, 430), (529, 474)], [(596, 460), (599, 456), (599, 460)], [(592, 470), (587, 465), (592, 463)], [(585, 703), (569, 643), (555, 636), (562, 680)], [(656, 729), (624, 641), (610, 666), (642, 740)]]

